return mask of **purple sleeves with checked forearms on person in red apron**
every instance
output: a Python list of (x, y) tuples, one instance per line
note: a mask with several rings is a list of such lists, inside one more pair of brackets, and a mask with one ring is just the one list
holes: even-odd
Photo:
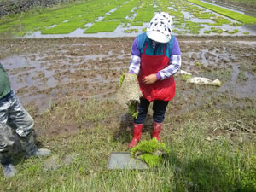
[[(172, 75), (177, 73), (177, 71), (181, 67), (181, 55), (180, 55), (180, 48), (177, 42), (177, 38), (175, 38), (174, 36), (172, 36), (172, 38), (174, 38), (174, 42), (173, 42), (172, 52), (169, 57), (170, 59), (169, 66), (167, 66), (166, 68), (156, 73), (156, 77), (158, 80), (163, 80), (171, 77)], [(154, 44), (154, 42), (153, 44), (149, 44), (149, 45), (151, 45), (153, 49), (156, 49), (157, 46), (159, 46), (159, 44)], [(167, 46), (167, 49), (168, 49), (168, 46)], [(139, 73), (140, 65), (141, 65), (141, 54), (142, 54), (142, 51), (139, 48), (139, 40), (138, 38), (136, 38), (131, 48), (131, 62), (129, 67), (129, 73), (133, 73), (133, 74)]]

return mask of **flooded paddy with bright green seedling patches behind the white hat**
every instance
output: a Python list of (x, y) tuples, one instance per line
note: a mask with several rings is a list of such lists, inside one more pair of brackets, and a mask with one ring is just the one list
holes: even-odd
[[(173, 0), (172, 2), (147, 0), (145, 3), (137, 0), (108, 1), (106, 2), (106, 5), (108, 4), (106, 8), (95, 9), (94, 12), (91, 12), (90, 6), (95, 7), (98, 4), (100, 2), (96, 2), (95, 4), (78, 4), (67, 8), (67, 11), (60, 9), (46, 13), (44, 16), (36, 15), (33, 19), (24, 18), (22, 20), (15, 20), (7, 24), (6, 28), (12, 26), (11, 31), (13, 30), (15, 38), (135, 37), (146, 30), (148, 22), (152, 18), (147, 18), (147, 15), (154, 15), (158, 11), (166, 11), (172, 15), (174, 22), (172, 32), (174, 35), (256, 35), (255, 24), (246, 25), (246, 22), (241, 23), (183, 0)], [(216, 3), (210, 4), (216, 5)], [(85, 9), (84, 6), (88, 8)], [(227, 5), (217, 6), (232, 10), (235, 15), (236, 13), (242, 15), (246, 15), (247, 13), (246, 10), (233, 9)], [(143, 12), (143, 10), (145, 11)], [(70, 12), (70, 15), (65, 16), (67, 12)], [(124, 15), (122, 15), (123, 12), (125, 13)], [(252, 16), (255, 17), (255, 15)], [(99, 25), (95, 27), (99, 23), (104, 24), (110, 21), (116, 21), (117, 23), (111, 23), (113, 26)], [(113, 29), (110, 29), (112, 27)], [(1, 31), (4, 32), (6, 30), (0, 27)], [(10, 32), (7, 33), (9, 34)]]

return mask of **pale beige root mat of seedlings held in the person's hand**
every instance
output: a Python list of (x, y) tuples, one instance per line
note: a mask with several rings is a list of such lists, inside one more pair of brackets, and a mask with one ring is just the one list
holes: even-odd
[(140, 90), (137, 75), (125, 74), (125, 79), (117, 92), (117, 102), (122, 108), (128, 108), (133, 101), (140, 101), (142, 92)]

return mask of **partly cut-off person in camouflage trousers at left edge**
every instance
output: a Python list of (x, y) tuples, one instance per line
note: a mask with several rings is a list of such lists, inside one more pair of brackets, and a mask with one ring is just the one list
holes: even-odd
[(4, 177), (14, 177), (17, 172), (10, 156), (15, 143), (13, 131), (20, 138), (26, 157), (50, 154), (49, 149), (36, 147), (33, 125), (32, 117), (11, 90), (8, 74), (0, 63), (0, 160)]

